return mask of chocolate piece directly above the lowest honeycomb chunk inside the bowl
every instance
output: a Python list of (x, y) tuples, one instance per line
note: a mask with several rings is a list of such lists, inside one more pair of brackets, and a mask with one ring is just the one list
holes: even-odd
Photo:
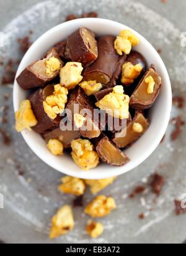
[(64, 149), (71, 148), (71, 142), (81, 137), (79, 130), (61, 130), (60, 127), (49, 130), (42, 134), (43, 139), (48, 143), (49, 140), (57, 139), (62, 142)]

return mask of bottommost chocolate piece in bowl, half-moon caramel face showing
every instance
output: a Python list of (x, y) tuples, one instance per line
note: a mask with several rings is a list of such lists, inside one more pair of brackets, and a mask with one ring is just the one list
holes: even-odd
[(104, 134), (101, 134), (99, 138), (94, 139), (94, 145), (100, 159), (109, 165), (119, 167), (130, 161), (125, 153), (118, 149)]

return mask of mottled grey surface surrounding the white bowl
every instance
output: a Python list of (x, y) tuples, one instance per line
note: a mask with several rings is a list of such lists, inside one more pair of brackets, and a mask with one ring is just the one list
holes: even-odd
[[(25, 23), (19, 27), (19, 34), (27, 35), (29, 29), (34, 30), (32, 40), (37, 39), (45, 30), (53, 25), (64, 21), (64, 17), (71, 13), (81, 14), (83, 11), (99, 9), (99, 16), (114, 19), (130, 25), (143, 34), (154, 47), (162, 49), (162, 58), (166, 63), (172, 81), (174, 94), (185, 95), (185, 49), (180, 47), (179, 33), (185, 31), (186, 2), (184, 0), (167, 0), (162, 4), (160, 0), (131, 1), (139, 2), (148, 7), (145, 15), (150, 15), (153, 10), (159, 16), (154, 22), (140, 11), (125, 6), (125, 0), (110, 1), (65, 1), (61, 4), (61, 17), (56, 21), (48, 21), (37, 26)], [(6, 0), (0, 1), (0, 30), (17, 16), (22, 14), (38, 0)], [(64, 2), (58, 0), (58, 2)], [(73, 5), (74, 2), (74, 5)], [(89, 4), (88, 4), (89, 2)], [(105, 2), (105, 6), (104, 6)], [(120, 8), (117, 8), (120, 6)], [(122, 7), (121, 7), (122, 6)], [(63, 11), (62, 11), (63, 10)], [(74, 11), (76, 10), (76, 11)], [(144, 10), (144, 9), (143, 9)], [(52, 10), (50, 10), (52, 11)], [(162, 17), (162, 19), (161, 19)], [(164, 20), (165, 18), (166, 20)], [(27, 19), (25, 19), (27, 20)], [(171, 24), (167, 23), (167, 20)], [(158, 23), (159, 22), (159, 23)], [(158, 23), (158, 24), (157, 24)], [(161, 33), (159, 33), (159, 31)], [(165, 40), (166, 39), (166, 40)], [(12, 35), (11, 44), (6, 47), (2, 56), (16, 58), (20, 57), (17, 50), (16, 37)], [(1, 55), (0, 55), (1, 56)], [(182, 68), (182, 70), (181, 70)], [(2, 72), (2, 69), (0, 70)], [(11, 86), (0, 86), (0, 107), (5, 104), (2, 99), (4, 93), (12, 93)], [(9, 124), (4, 126), (11, 134), (11, 147), (4, 147), (0, 140), (0, 193), (4, 194), (5, 208), (0, 209), (0, 239), (7, 243), (75, 243), (84, 244), (91, 242), (120, 242), (120, 243), (182, 243), (186, 237), (186, 216), (175, 217), (174, 198), (186, 193), (185, 178), (185, 129), (182, 136), (174, 143), (170, 142), (170, 126), (164, 144), (160, 145), (156, 152), (135, 170), (122, 175), (115, 183), (104, 191), (105, 194), (112, 194), (118, 204), (118, 209), (102, 222), (105, 225), (105, 232), (102, 237), (92, 240), (84, 232), (87, 217), (82, 214), (82, 209), (75, 209), (76, 228), (66, 237), (54, 241), (48, 240), (48, 230), (51, 216), (56, 209), (64, 203), (71, 203), (73, 196), (63, 195), (57, 191), (57, 185), (61, 174), (42, 163), (25, 145), (24, 140), (14, 131), (14, 113), (12, 100), (9, 100), (11, 111), (9, 112)], [(173, 109), (172, 116), (182, 114), (185, 119), (185, 109), (178, 111)], [(17, 173), (16, 163), (19, 163), (25, 175), (20, 177)], [(161, 166), (161, 167), (160, 167)], [(166, 186), (159, 198), (156, 198), (146, 185), (146, 180), (158, 171), (166, 177)], [(28, 179), (32, 182), (28, 182)], [(145, 184), (148, 190), (145, 194), (131, 200), (127, 195), (138, 184)], [(89, 192), (86, 193), (85, 201), (92, 199)], [(153, 203), (156, 199), (157, 203)], [(144, 204), (145, 200), (145, 204)], [(153, 212), (149, 213), (149, 208)], [(139, 213), (149, 215), (143, 221), (138, 219)]]

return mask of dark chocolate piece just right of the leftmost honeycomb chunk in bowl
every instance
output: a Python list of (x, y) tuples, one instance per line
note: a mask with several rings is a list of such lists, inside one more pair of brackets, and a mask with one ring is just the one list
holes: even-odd
[(56, 119), (52, 120), (48, 117), (43, 108), (43, 101), (45, 101), (47, 96), (50, 96), (53, 93), (53, 90), (53, 85), (48, 85), (44, 89), (38, 89), (35, 93), (29, 96), (33, 113), (38, 121), (37, 126), (32, 127), (32, 129), (38, 134), (42, 134), (45, 130), (50, 130), (60, 126), (60, 115), (58, 115)]

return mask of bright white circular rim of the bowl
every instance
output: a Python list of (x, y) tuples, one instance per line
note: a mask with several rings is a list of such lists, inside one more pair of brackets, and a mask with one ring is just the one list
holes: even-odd
[[(83, 22), (82, 22), (83, 21)], [(143, 35), (139, 34), (138, 32), (136, 32), (136, 30), (131, 29), (130, 27), (121, 24), (120, 22), (116, 22), (116, 21), (111, 21), (109, 19), (100, 19), (100, 18), (85, 18), (85, 19), (76, 19), (73, 21), (68, 21), (68, 22), (64, 22), (62, 24), (56, 25), (55, 27), (51, 28), (50, 30), (48, 30), (47, 32), (45, 32), (44, 34), (42, 34), (37, 40), (35, 40), (35, 42), (33, 43), (33, 45), (29, 48), (29, 50), (27, 51), (27, 53), (25, 53), (24, 57), (22, 58), (22, 61), (20, 62), (19, 68), (17, 69), (16, 75), (15, 75), (15, 81), (14, 81), (14, 89), (13, 89), (13, 104), (14, 104), (14, 111), (17, 111), (19, 109), (19, 104), (18, 100), (17, 100), (17, 89), (19, 88), (19, 85), (16, 81), (17, 76), (20, 74), (20, 72), (22, 70), (24, 70), (25, 68), (25, 60), (27, 58), (29, 58), (30, 53), (32, 52), (32, 49), (38, 45), (40, 42), (42, 42), (43, 39), (47, 38), (50, 34), (55, 33), (55, 31), (61, 29), (63, 30), (65, 27), (68, 27), (69, 25), (74, 25), (74, 24), (78, 24), (78, 22), (84, 23), (84, 26), (86, 27), (86, 22), (94, 22), (94, 24), (102, 24), (102, 25), (113, 25), (113, 26), (122, 26), (123, 29), (129, 29), (132, 32), (134, 32), (138, 38), (139, 41), (143, 41), (143, 43), (146, 43), (148, 45), (148, 47), (151, 49), (152, 52), (154, 52), (154, 54), (158, 55), (159, 58), (159, 65), (161, 66), (162, 72), (164, 73), (164, 75), (166, 76), (166, 81), (164, 81), (164, 83), (166, 83), (166, 87), (167, 87), (167, 106), (166, 106), (166, 115), (165, 115), (165, 119), (163, 121), (163, 124), (161, 126), (161, 129), (158, 132), (158, 136), (156, 137), (156, 140), (154, 139), (153, 142), (151, 142), (151, 144), (149, 145), (149, 149), (146, 150), (146, 152), (144, 152), (143, 154), (141, 154), (139, 156), (138, 159), (136, 160), (131, 160), (130, 161), (130, 165), (126, 164), (123, 167), (112, 167), (112, 166), (107, 166), (107, 170), (108, 173), (102, 173), (100, 171), (99, 175), (95, 175), (94, 174), (94, 170), (89, 170), (89, 171), (80, 171), (80, 169), (77, 167), (77, 170), (70, 170), (70, 168), (66, 168), (66, 167), (56, 167), (55, 163), (53, 163), (51, 160), (49, 160), (48, 158), (46, 158), (45, 156), (43, 156), (40, 153), (40, 150), (37, 148), (37, 145), (33, 145), (30, 140), (29, 140), (29, 132), (27, 131), (22, 131), (22, 137), (24, 137), (25, 142), (27, 143), (27, 145), (29, 145), (30, 149), (35, 153), (35, 155), (37, 155), (43, 162), (47, 163), (48, 166), (50, 166), (51, 168), (60, 171), (61, 173), (64, 173), (66, 175), (69, 176), (76, 176), (77, 178), (83, 178), (83, 179), (90, 179), (90, 180), (99, 180), (99, 179), (104, 179), (104, 178), (110, 178), (112, 176), (119, 176), (122, 175), (123, 173), (126, 173), (128, 171), (133, 170), (134, 168), (138, 167), (141, 163), (144, 162), (144, 160), (146, 160), (153, 152), (154, 150), (157, 148), (157, 146), (159, 145), (159, 143), (161, 142), (162, 137), (164, 136), (167, 126), (169, 124), (169, 120), (170, 120), (170, 112), (172, 109), (172, 88), (170, 85), (170, 79), (169, 79), (169, 74), (167, 72), (166, 66), (164, 65), (164, 62), (162, 61), (161, 57), (159, 56), (159, 53), (157, 53), (156, 49), (153, 47), (153, 45), (151, 45), (151, 43), (148, 42), (147, 39), (145, 39), (143, 37)], [(79, 27), (81, 27), (82, 25), (79, 25)], [(17, 88), (18, 86), (18, 88)], [(19, 88), (20, 89), (20, 88)], [(33, 131), (32, 131), (33, 132)], [(53, 156), (54, 160), (55, 160), (55, 156)], [(133, 164), (131, 164), (131, 162)], [(63, 170), (61, 170), (63, 168)], [(99, 167), (97, 167), (99, 168)], [(113, 170), (113, 171), (110, 171)]]

